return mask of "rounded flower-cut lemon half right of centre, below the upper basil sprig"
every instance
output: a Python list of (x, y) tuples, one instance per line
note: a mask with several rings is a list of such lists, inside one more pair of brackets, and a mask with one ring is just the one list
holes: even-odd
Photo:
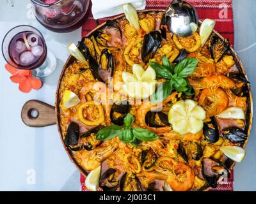
[(168, 119), (173, 130), (180, 135), (196, 134), (204, 127), (205, 110), (196, 101), (181, 100), (169, 110)]

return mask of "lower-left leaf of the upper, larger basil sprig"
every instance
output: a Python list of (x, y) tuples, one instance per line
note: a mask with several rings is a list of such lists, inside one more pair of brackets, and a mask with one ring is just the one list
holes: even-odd
[(156, 92), (152, 95), (151, 103), (159, 103), (170, 96), (172, 92), (172, 82), (167, 81), (157, 87)]

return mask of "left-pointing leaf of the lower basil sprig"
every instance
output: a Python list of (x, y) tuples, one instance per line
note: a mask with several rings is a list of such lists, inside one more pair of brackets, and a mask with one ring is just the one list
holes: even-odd
[(122, 132), (122, 126), (111, 125), (100, 129), (96, 135), (97, 140), (110, 140)]

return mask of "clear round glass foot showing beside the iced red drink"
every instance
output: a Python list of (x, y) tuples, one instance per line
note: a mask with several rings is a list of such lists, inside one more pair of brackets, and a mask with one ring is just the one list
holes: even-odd
[(56, 57), (50, 50), (47, 50), (47, 57), (44, 64), (39, 68), (33, 69), (32, 73), (35, 77), (46, 77), (56, 68)]

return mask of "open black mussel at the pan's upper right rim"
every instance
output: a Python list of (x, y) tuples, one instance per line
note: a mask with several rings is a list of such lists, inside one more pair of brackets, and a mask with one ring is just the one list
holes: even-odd
[[(228, 50), (230, 50), (230, 42), (228, 41), (228, 39), (225, 39), (223, 41), (219, 36), (212, 36), (210, 52), (211, 57), (212, 59), (214, 59), (215, 62), (220, 62), (224, 55), (228, 52)], [(216, 52), (220, 52), (221, 55), (216, 56)], [(216, 59), (216, 57), (218, 58)]]

